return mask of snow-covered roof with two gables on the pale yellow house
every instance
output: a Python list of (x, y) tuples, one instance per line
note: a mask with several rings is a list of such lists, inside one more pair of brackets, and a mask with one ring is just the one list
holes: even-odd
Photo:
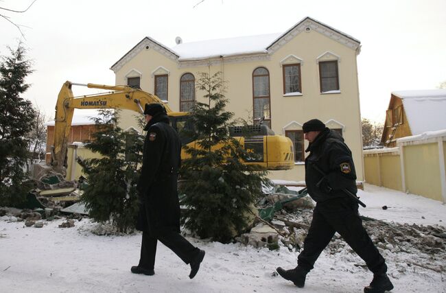
[(138, 54), (139, 51), (152, 48), (172, 60), (185, 63), (221, 57), (240, 58), (247, 55), (268, 56), (268, 54), (273, 54), (274, 51), (277, 51), (277, 49), (292, 40), (297, 34), (311, 32), (312, 30), (324, 34), (328, 38), (336, 40), (342, 45), (359, 52), (359, 40), (335, 30), (333, 27), (325, 25), (320, 21), (305, 17), (305, 19), (296, 23), (296, 25), (292, 26), (283, 34), (263, 34), (258, 36), (202, 40), (199, 42), (180, 43), (172, 49), (147, 36), (112, 65), (110, 69), (116, 72), (128, 60), (131, 60)]

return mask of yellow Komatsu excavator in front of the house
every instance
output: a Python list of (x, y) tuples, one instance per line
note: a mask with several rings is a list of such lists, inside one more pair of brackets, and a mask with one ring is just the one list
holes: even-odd
[[(72, 86), (86, 86), (90, 89), (108, 90), (106, 93), (73, 96)], [(108, 86), (101, 84), (77, 84), (65, 82), (60, 89), (56, 104), (54, 125), (54, 145), (51, 148), (51, 165), (56, 172), (64, 173), (68, 148), (68, 137), (73, 119), (74, 109), (102, 109), (115, 108), (134, 110), (143, 115), (145, 104), (163, 104), (169, 115), (172, 126), (177, 130), (187, 127), (189, 113), (174, 112), (169, 105), (163, 103), (159, 97), (141, 89), (130, 86)], [(275, 135), (267, 126), (250, 126), (245, 128), (231, 128), (230, 133), (238, 139), (245, 150), (255, 154), (246, 164), (259, 164), (268, 170), (285, 170), (294, 167), (294, 149), (292, 141), (282, 135)], [(244, 135), (244, 136), (242, 136)], [(182, 138), (183, 145), (195, 146), (194, 141)], [(182, 156), (184, 157), (185, 152)]]

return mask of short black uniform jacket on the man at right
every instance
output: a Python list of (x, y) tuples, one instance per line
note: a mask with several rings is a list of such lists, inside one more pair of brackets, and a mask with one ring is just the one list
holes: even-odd
[[(356, 194), (356, 172), (351, 151), (338, 132), (325, 128), (309, 143), (305, 152), (309, 152), (305, 159), (305, 183), (314, 201), (324, 202), (331, 198), (347, 197), (342, 191), (344, 188)], [(322, 179), (324, 176), (314, 165), (326, 174), (325, 178)], [(317, 186), (318, 183), (322, 184)], [(327, 184), (331, 191), (326, 188)]]

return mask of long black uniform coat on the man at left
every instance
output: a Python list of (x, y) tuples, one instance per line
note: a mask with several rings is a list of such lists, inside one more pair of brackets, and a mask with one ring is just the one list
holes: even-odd
[(143, 165), (137, 189), (141, 207), (139, 231), (153, 233), (160, 229), (180, 232), (180, 204), (177, 180), (181, 162), (181, 142), (169, 125), (169, 117), (160, 113), (145, 126)]

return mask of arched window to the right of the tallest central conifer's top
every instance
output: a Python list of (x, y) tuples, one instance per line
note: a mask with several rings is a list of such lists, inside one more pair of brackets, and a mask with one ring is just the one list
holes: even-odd
[(270, 73), (265, 67), (253, 71), (254, 124), (271, 128)]

